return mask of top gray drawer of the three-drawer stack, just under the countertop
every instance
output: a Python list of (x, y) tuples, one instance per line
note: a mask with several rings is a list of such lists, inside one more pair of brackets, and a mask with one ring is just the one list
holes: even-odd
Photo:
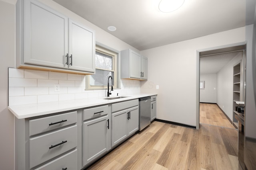
[(36, 135), (38, 133), (47, 132), (58, 129), (77, 121), (77, 112), (64, 113), (60, 115), (48, 116), (29, 121), (29, 135)]

